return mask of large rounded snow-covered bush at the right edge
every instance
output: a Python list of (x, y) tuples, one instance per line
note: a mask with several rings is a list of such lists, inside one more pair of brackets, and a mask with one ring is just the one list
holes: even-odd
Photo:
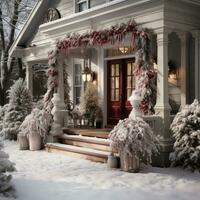
[(171, 124), (175, 138), (172, 166), (200, 171), (200, 104), (197, 100), (178, 112)]

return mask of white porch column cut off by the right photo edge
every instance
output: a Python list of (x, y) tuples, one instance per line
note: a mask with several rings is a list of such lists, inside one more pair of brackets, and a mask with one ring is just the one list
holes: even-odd
[(195, 40), (195, 98), (200, 101), (200, 30), (192, 32)]

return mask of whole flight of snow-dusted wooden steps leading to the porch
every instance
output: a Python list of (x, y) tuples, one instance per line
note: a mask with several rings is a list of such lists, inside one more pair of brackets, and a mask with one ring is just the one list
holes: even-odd
[(63, 129), (57, 143), (47, 143), (48, 152), (61, 153), (94, 162), (107, 162), (110, 155), (110, 129)]

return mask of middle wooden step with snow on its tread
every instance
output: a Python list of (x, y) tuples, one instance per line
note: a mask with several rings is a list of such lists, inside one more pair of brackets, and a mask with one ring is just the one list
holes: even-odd
[(110, 141), (104, 138), (63, 134), (59, 136), (58, 139), (59, 139), (59, 142), (62, 144), (68, 144), (68, 145), (74, 145), (74, 146), (79, 146), (79, 147), (86, 147), (86, 148), (111, 152)]

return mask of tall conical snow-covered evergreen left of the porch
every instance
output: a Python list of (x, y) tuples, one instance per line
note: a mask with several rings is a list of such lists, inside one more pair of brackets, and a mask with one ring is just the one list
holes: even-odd
[(17, 139), (19, 127), (32, 110), (32, 97), (26, 83), (19, 79), (8, 91), (9, 104), (3, 119), (1, 135), (5, 139)]

